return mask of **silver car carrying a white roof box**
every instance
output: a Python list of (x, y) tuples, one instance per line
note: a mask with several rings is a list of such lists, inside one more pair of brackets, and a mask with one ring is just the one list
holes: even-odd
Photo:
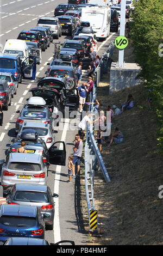
[[(38, 103), (36, 104), (37, 101)], [(20, 115), (15, 124), (16, 133), (20, 131), (24, 121), (33, 122), (35, 120), (37, 123), (50, 124), (53, 130), (55, 125), (57, 125), (52, 112), (46, 106), (46, 101), (42, 98), (40, 99), (40, 97), (30, 97), (22, 111), (18, 110), (17, 113), (20, 113)]]

